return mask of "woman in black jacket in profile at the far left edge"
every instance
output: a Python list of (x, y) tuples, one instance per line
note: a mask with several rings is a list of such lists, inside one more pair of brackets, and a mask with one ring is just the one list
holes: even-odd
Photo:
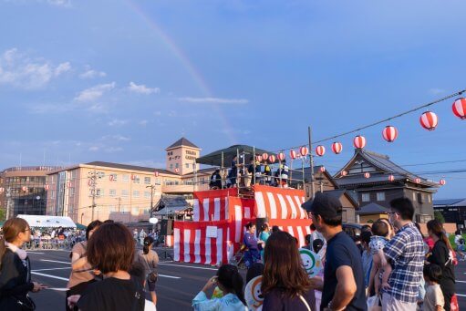
[(26, 220), (12, 218), (3, 226), (0, 240), (0, 310), (16, 311), (36, 306), (28, 292), (38, 292), (45, 286), (31, 282), (31, 264), (21, 247), (31, 240), (31, 228)]

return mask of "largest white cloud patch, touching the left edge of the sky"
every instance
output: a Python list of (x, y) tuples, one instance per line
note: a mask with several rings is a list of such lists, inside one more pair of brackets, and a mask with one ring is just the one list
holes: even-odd
[(54, 66), (46, 59), (27, 57), (17, 48), (11, 48), (0, 56), (0, 84), (26, 89), (44, 88), (52, 78), (69, 69), (69, 62)]

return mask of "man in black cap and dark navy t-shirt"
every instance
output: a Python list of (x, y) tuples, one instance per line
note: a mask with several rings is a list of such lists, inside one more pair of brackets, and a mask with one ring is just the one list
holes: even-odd
[(354, 241), (343, 232), (342, 205), (328, 193), (316, 193), (302, 205), (319, 233), (326, 238), (324, 282), (313, 278), (322, 291), (321, 310), (367, 310), (361, 255)]

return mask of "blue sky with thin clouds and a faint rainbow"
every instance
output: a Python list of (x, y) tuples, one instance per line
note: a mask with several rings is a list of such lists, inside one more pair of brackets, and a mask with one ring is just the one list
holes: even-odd
[[(463, 1), (0, 0), (0, 168), (115, 161), (163, 167), (181, 136), (203, 153), (280, 150), (466, 88)], [(399, 164), (466, 159), (451, 101), (361, 131)], [(317, 159), (335, 172), (353, 154)], [(408, 168), (408, 167), (407, 167)], [(466, 168), (466, 161), (409, 167)], [(464, 173), (437, 198), (466, 197)]]

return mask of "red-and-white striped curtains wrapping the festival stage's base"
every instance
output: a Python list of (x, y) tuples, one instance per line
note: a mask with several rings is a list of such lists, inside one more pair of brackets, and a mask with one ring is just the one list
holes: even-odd
[(193, 221), (174, 223), (174, 260), (229, 263), (243, 244), (244, 225), (257, 218), (279, 226), (303, 246), (311, 224), (301, 208), (305, 192), (264, 185), (252, 188), (254, 199), (238, 197), (235, 188), (194, 192)]

